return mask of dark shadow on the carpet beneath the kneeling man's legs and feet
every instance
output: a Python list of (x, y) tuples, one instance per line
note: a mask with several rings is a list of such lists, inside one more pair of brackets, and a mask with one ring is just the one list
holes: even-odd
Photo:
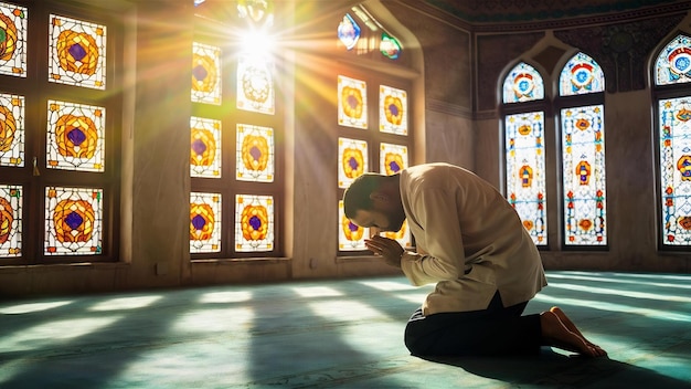
[(545, 348), (525, 357), (425, 357), (469, 374), (520, 386), (559, 388), (691, 388), (653, 370), (605, 358), (565, 356)]

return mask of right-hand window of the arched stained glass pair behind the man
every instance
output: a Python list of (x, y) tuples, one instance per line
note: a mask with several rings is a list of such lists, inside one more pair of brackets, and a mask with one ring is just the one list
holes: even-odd
[[(605, 77), (585, 53), (561, 71), (559, 104), (565, 245), (606, 245)], [(597, 103), (583, 105), (583, 95)], [(591, 99), (592, 102), (592, 99)]]

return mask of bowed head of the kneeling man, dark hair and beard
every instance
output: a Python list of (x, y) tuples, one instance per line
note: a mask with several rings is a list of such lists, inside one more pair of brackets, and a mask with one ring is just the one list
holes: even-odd
[(343, 193), (343, 211), (353, 223), (381, 231), (398, 231), (405, 221), (398, 175), (365, 172)]

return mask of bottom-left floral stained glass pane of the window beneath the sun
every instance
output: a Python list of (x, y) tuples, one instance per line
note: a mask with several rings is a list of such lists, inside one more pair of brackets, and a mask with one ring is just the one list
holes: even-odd
[(190, 193), (190, 253), (221, 251), (221, 195)]

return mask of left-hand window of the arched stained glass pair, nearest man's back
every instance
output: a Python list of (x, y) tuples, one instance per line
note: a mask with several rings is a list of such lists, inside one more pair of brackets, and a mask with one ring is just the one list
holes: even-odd
[(502, 85), (507, 198), (533, 242), (546, 246), (543, 77), (521, 62), (509, 71)]

